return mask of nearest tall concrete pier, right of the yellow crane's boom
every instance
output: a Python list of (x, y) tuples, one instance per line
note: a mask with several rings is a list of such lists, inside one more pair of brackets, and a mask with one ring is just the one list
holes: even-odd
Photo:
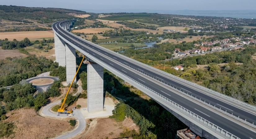
[(87, 109), (103, 111), (103, 67), (98, 64), (87, 65)]

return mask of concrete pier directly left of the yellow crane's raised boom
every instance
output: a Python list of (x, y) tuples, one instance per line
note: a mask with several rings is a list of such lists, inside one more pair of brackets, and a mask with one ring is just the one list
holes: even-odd
[[(67, 79), (67, 84), (69, 84), (72, 82), (76, 74), (75, 48), (73, 48), (69, 44), (66, 44), (65, 55), (66, 55), (66, 79)], [(76, 78), (74, 82), (76, 82)]]

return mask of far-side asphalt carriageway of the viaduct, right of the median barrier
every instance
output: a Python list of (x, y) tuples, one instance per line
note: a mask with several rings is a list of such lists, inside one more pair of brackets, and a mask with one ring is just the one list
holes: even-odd
[(204, 92), (197, 91), (197, 90), (191, 88), (190, 86), (187, 86), (186, 84), (182, 84), (180, 82), (175, 81), (175, 79), (162, 76), (161, 74), (158, 74), (157, 72), (151, 71), (147, 67), (143, 67), (143, 66), (134, 64), (133, 62), (128, 61), (127, 59), (124, 59), (123, 57), (119, 57), (119, 55), (115, 54), (115, 52), (110, 53), (109, 51), (105, 51), (104, 49), (101, 48), (101, 46), (86, 42), (85, 40), (83, 40), (80, 37), (77, 38), (74, 35), (69, 34), (69, 33), (66, 33), (65, 35), (68, 35), (70, 38), (73, 38), (76, 41), (79, 41), (80, 43), (83, 43), (83, 44), (87, 45), (88, 47), (91, 47), (100, 53), (104, 52), (103, 54), (105, 54), (106, 56), (113, 58), (115, 60), (118, 60), (118, 61), (124, 63), (125, 65), (129, 65), (129, 66), (133, 67), (134, 69), (137, 69), (138, 71), (143, 72), (144, 74), (148, 74), (152, 77), (155, 77), (159, 81), (162, 81), (162, 82), (167, 83), (168, 85), (174, 86), (175, 88), (178, 88), (181, 91), (184, 91), (189, 95), (192, 95), (198, 99), (201, 99), (202, 101), (205, 100), (206, 103), (210, 103), (211, 105), (213, 105), (215, 107), (221, 108), (223, 111), (227, 111), (230, 114), (232, 113), (233, 115), (235, 115), (237, 117), (239, 116), (241, 119), (244, 119), (244, 120), (246, 119), (246, 121), (248, 121), (250, 123), (253, 123), (253, 122), (256, 123), (256, 115), (253, 113), (247, 112), (243, 109), (235, 107), (234, 105), (223, 102), (220, 99), (218, 99), (217, 97), (212, 97), (212, 96), (205, 94)]

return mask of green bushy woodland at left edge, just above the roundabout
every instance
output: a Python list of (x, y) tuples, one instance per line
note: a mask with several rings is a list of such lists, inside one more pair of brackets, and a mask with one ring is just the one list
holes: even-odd
[(58, 67), (45, 57), (6, 58), (0, 60), (0, 87), (18, 84), (22, 79), (35, 77)]

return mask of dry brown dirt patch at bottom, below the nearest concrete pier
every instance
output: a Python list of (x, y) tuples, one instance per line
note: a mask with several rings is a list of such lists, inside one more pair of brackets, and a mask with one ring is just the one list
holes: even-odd
[(120, 133), (125, 129), (139, 131), (139, 127), (133, 123), (132, 119), (126, 118), (123, 122), (116, 122), (112, 118), (95, 119), (90, 123), (88, 131), (82, 137), (83, 139), (105, 139), (119, 138)]

